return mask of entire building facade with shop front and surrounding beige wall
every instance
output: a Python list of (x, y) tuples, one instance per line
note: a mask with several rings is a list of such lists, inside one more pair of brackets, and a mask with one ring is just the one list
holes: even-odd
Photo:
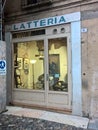
[(7, 103), (97, 116), (96, 0), (8, 0)]

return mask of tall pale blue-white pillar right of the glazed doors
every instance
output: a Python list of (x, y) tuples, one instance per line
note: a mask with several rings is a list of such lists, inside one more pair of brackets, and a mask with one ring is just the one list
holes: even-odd
[(82, 83), (81, 83), (81, 22), (71, 23), (72, 43), (72, 113), (82, 116)]

